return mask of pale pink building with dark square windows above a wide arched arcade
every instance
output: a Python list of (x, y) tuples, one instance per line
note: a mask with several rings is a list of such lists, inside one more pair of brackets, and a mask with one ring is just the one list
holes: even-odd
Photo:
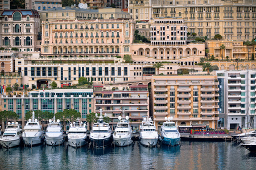
[(169, 62), (193, 65), (205, 55), (203, 42), (187, 42), (187, 24), (183, 18), (155, 18), (150, 22), (151, 44), (134, 43), (132, 55), (148, 57)]

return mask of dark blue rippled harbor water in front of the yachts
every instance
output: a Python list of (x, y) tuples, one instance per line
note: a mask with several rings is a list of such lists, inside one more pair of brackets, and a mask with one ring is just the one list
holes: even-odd
[(232, 142), (148, 148), (135, 142), (105, 149), (63, 146), (2, 148), (0, 169), (255, 169), (256, 154)]

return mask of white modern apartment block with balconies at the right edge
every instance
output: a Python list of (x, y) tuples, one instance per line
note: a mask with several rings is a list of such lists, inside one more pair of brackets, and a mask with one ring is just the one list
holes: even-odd
[(255, 70), (216, 71), (222, 79), (222, 99), (225, 113), (224, 127), (227, 129), (255, 128)]

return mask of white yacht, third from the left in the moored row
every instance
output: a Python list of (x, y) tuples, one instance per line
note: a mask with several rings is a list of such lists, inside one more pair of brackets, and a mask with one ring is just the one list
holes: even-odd
[(63, 144), (63, 130), (60, 125), (60, 120), (55, 122), (55, 117), (53, 117), (53, 122), (50, 119), (49, 124), (46, 129), (46, 145), (57, 146)]

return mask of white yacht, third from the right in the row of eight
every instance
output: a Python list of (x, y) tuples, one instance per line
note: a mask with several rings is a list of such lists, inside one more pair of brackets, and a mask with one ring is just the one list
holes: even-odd
[(117, 146), (128, 146), (133, 143), (132, 130), (129, 122), (129, 117), (126, 116), (122, 119), (121, 116), (118, 117), (120, 120), (117, 123), (117, 127), (115, 128), (115, 132), (113, 134), (113, 141)]

